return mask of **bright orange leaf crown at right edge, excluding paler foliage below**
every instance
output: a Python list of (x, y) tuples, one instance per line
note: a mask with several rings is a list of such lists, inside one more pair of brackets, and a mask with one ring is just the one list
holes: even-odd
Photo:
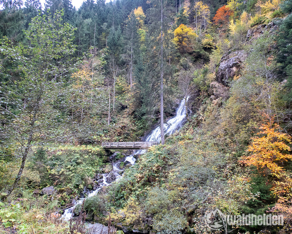
[(291, 136), (286, 133), (280, 133), (278, 124), (270, 126), (270, 122), (263, 124), (258, 135), (253, 137), (252, 143), (247, 151), (250, 155), (244, 156), (241, 160), (247, 166), (256, 166), (259, 173), (263, 175), (272, 174), (280, 177), (284, 173), (283, 163), (292, 159), (291, 154), (285, 154), (283, 151), (290, 151), (287, 144), (291, 144)]

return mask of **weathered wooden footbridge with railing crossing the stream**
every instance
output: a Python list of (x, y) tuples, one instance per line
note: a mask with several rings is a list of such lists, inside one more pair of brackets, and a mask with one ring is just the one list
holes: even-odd
[(147, 149), (157, 144), (157, 141), (102, 142), (101, 146), (104, 149)]

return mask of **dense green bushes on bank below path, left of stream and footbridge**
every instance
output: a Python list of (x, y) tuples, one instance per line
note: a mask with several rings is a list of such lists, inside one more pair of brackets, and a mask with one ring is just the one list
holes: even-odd
[(101, 172), (106, 163), (107, 156), (99, 147), (38, 148), (25, 167), (21, 187), (34, 190), (54, 185), (93, 189), (95, 173)]

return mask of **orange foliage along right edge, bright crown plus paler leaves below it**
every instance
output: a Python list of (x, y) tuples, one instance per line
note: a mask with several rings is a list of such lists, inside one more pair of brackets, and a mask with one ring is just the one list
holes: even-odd
[[(272, 120), (273, 122), (273, 120)], [(292, 159), (288, 144), (291, 144), (291, 136), (279, 132), (279, 125), (263, 124), (258, 137), (252, 138), (252, 143), (247, 151), (248, 156), (243, 156), (241, 162), (247, 166), (256, 166), (258, 173), (269, 178), (272, 184), (271, 192), (277, 198), (277, 202), (268, 212), (283, 215), (284, 227), (279, 233), (288, 233), (292, 226), (292, 174), (284, 169), (284, 163)]]

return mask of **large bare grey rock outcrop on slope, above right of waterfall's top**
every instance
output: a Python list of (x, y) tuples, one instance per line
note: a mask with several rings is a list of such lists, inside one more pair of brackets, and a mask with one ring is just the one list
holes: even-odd
[(244, 50), (234, 51), (230, 54), (224, 54), (221, 58), (220, 65), (216, 74), (218, 83), (227, 85), (230, 78), (233, 78), (239, 67), (247, 58), (247, 53)]

